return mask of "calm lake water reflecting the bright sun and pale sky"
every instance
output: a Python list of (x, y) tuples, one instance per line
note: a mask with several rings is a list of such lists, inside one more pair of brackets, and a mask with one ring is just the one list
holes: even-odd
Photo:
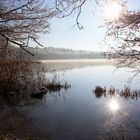
[[(19, 110), (27, 122), (12, 132), (48, 140), (123, 140), (140, 138), (140, 98), (96, 96), (96, 86), (140, 89), (132, 69), (116, 69), (108, 60), (45, 61), (46, 76), (52, 71), (71, 88), (48, 92), (41, 101)], [(4, 114), (4, 113), (2, 113)], [(1, 123), (12, 123), (4, 119)], [(12, 121), (11, 121), (12, 120)], [(14, 121), (20, 121), (20, 117)], [(8, 122), (9, 121), (9, 122)], [(2, 127), (0, 126), (0, 128)], [(24, 127), (23, 127), (24, 126)], [(11, 132), (11, 131), (10, 131)]]

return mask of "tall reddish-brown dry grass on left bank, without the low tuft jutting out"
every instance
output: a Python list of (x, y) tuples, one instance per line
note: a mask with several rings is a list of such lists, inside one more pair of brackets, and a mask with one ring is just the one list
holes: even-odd
[(0, 60), (0, 96), (16, 104), (43, 83), (41, 63), (28, 59)]

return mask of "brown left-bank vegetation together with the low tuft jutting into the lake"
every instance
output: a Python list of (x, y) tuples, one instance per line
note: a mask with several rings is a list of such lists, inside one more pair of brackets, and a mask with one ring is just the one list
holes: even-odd
[(55, 74), (52, 80), (46, 78), (41, 62), (26, 57), (7, 57), (0, 60), (0, 98), (6, 104), (20, 105), (32, 102), (31, 98), (42, 99), (49, 92), (68, 89)]

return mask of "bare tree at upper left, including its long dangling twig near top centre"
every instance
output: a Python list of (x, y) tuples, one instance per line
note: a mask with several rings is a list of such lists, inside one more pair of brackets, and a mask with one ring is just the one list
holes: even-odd
[[(9, 44), (25, 50), (30, 41), (36, 42), (40, 33), (48, 33), (52, 17), (66, 17), (77, 11), (76, 23), (82, 5), (86, 0), (1, 0), (0, 3), (0, 40), (1, 51), (5, 52)], [(2, 53), (3, 54), (3, 53)]]

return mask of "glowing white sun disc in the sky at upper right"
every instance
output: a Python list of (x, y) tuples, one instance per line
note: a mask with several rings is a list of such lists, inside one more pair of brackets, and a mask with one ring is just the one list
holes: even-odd
[(117, 20), (121, 16), (122, 6), (117, 2), (108, 3), (104, 10), (103, 15), (107, 20)]

